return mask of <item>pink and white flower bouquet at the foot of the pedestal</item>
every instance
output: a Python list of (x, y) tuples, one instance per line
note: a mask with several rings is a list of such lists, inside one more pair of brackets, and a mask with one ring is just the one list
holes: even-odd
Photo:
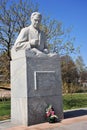
[(58, 120), (58, 116), (55, 115), (54, 108), (52, 105), (49, 105), (46, 108), (46, 118), (49, 123), (55, 123)]

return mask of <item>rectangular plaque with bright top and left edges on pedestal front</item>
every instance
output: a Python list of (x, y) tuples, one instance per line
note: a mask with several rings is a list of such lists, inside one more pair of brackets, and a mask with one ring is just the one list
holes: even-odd
[(55, 71), (35, 71), (34, 81), (35, 81), (35, 90), (55, 88), (56, 73)]

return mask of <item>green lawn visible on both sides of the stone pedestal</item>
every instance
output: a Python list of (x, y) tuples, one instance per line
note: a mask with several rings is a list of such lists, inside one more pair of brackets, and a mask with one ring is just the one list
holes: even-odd
[[(10, 118), (10, 100), (0, 101), (0, 120)], [(87, 93), (64, 94), (63, 109), (77, 109), (87, 107)]]

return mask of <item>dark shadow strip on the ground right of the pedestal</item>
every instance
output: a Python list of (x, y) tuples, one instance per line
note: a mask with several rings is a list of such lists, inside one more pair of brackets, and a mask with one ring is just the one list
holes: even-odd
[(84, 110), (84, 109), (72, 110), (72, 111), (64, 112), (64, 119), (84, 116), (84, 115), (87, 115), (87, 110)]

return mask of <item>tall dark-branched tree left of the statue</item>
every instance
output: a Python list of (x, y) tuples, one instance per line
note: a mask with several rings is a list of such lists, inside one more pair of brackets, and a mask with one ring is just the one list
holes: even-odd
[(31, 13), (37, 10), (37, 4), (33, 4), (31, 0), (24, 2), (19, 0), (17, 3), (11, 0), (0, 0), (0, 58), (3, 59), (1, 61), (5, 68), (1, 69), (3, 74), (4, 71), (6, 72), (7, 79), (10, 77), (10, 49), (21, 28), (28, 25)]

